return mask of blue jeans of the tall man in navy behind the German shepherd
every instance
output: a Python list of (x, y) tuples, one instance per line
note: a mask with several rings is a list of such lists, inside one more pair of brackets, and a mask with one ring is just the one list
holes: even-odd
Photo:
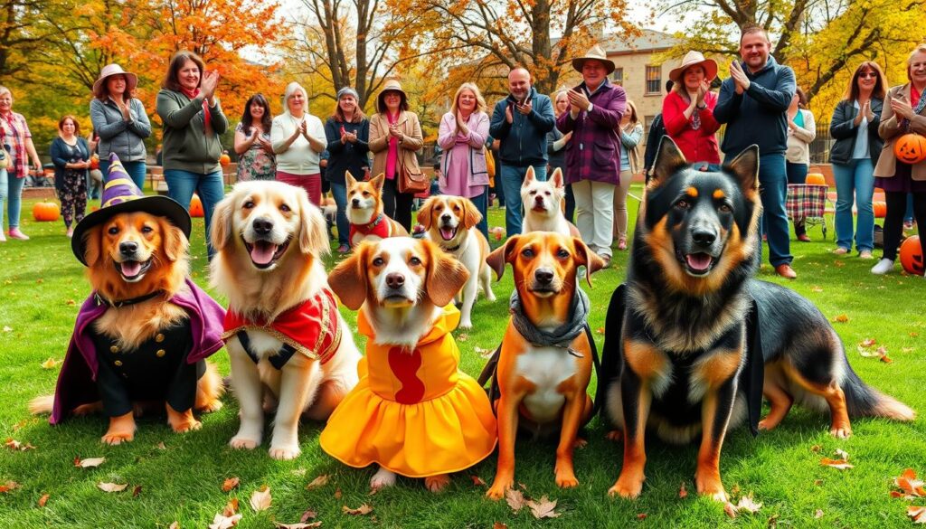
[(788, 214), (784, 209), (788, 176), (783, 153), (758, 157), (758, 185), (764, 209), (759, 222), (759, 234), (768, 235), (769, 262), (773, 267), (790, 264), (794, 256), (791, 255), (791, 239), (788, 235)]

